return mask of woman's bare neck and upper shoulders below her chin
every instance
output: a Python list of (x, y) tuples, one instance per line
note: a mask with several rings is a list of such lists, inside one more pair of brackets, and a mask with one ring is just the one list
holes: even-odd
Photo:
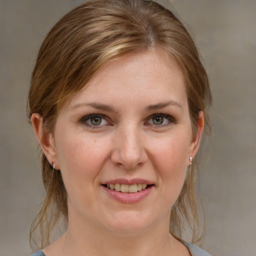
[(117, 233), (69, 214), (67, 232), (43, 251), (46, 256), (189, 255), (185, 246), (169, 235), (168, 225), (166, 216), (147, 230)]

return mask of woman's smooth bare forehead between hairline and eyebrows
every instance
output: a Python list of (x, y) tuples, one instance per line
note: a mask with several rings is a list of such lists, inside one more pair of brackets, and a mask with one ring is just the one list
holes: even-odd
[[(139, 98), (140, 97), (140, 98)], [(176, 62), (156, 51), (133, 53), (107, 63), (71, 99), (69, 106), (84, 101), (136, 102), (186, 101), (183, 74)]]

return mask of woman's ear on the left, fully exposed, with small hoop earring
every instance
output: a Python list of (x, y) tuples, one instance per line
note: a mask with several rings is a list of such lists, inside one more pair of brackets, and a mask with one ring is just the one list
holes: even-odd
[(39, 113), (33, 113), (30, 120), (43, 153), (47, 157), (49, 163), (52, 165), (52, 162), (54, 161), (55, 168), (59, 169), (53, 135), (52, 133), (46, 133), (43, 130), (42, 116)]

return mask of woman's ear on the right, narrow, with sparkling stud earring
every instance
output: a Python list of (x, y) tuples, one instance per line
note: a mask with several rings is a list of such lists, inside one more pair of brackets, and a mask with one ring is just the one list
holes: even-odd
[(204, 125), (203, 111), (200, 111), (199, 115), (198, 115), (198, 123), (197, 123), (197, 127), (196, 127), (196, 132), (192, 138), (190, 148), (189, 148), (187, 166), (189, 166), (191, 163), (191, 161), (189, 160), (189, 157), (194, 158), (194, 156), (199, 148), (202, 131), (203, 131), (203, 125)]

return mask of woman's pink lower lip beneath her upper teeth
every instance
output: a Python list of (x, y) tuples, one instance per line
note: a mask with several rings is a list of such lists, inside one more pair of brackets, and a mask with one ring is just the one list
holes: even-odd
[(123, 192), (109, 189), (103, 185), (102, 187), (107, 192), (107, 194), (114, 200), (117, 200), (122, 203), (135, 203), (135, 202), (141, 201), (146, 196), (148, 196), (151, 189), (153, 188), (153, 185), (135, 193), (123, 193)]

